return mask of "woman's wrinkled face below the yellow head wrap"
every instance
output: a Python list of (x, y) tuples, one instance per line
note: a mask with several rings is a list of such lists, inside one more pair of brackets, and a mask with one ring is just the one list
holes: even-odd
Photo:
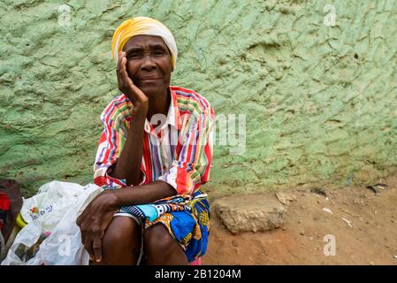
[(172, 60), (160, 36), (135, 35), (123, 47), (126, 72), (147, 96), (164, 92), (170, 86)]

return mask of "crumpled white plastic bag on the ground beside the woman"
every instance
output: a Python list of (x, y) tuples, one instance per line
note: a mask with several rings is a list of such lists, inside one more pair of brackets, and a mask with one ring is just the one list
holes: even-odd
[(102, 191), (93, 184), (82, 187), (60, 181), (40, 187), (38, 195), (24, 201), (21, 215), (27, 226), (19, 231), (2, 265), (88, 264), (76, 219)]

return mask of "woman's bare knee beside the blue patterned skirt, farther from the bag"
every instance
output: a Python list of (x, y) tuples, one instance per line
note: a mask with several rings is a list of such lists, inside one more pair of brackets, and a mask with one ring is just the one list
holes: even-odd
[(163, 224), (151, 226), (144, 233), (144, 247), (149, 265), (187, 265), (185, 251), (172, 239)]

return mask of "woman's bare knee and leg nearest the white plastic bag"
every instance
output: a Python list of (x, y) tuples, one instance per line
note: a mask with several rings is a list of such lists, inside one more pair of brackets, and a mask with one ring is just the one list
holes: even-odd
[(116, 216), (103, 236), (103, 261), (98, 264), (134, 265), (141, 251), (141, 226), (133, 218)]

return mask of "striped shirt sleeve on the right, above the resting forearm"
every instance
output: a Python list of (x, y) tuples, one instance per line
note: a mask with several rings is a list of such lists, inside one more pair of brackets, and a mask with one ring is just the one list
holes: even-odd
[(176, 189), (178, 195), (193, 195), (210, 179), (212, 161), (212, 137), (215, 113), (212, 107), (182, 123), (179, 134), (179, 156), (170, 169), (158, 178)]

